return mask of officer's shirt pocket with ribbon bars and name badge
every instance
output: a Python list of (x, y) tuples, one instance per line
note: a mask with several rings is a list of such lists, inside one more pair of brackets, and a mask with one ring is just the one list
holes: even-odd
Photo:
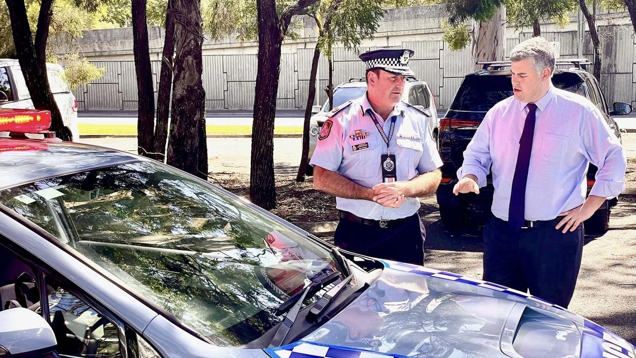
[(380, 170), (378, 138), (369, 134), (363, 140), (348, 140), (347, 153), (356, 162), (347, 175), (351, 178), (370, 178)]

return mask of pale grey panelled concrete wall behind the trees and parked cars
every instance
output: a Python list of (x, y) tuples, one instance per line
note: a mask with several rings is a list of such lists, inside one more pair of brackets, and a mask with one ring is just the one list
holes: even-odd
[[(364, 76), (364, 66), (357, 54), (366, 50), (385, 47), (406, 47), (415, 50), (411, 68), (419, 78), (429, 83), (438, 108), (448, 108), (455, 91), (466, 73), (473, 70), (470, 49), (459, 52), (448, 49), (442, 41), (439, 29), (445, 18), (444, 6), (418, 6), (388, 10), (374, 39), (365, 40), (356, 53), (335, 48), (334, 83), (351, 77)], [(624, 13), (604, 14), (601, 31), (607, 32), (604, 44), (602, 87), (607, 100), (624, 101), (636, 106), (636, 40), (629, 18)], [(300, 38), (286, 40), (282, 47), (280, 81), (277, 106), (280, 110), (300, 110), (307, 103), (308, 79), (315, 47), (314, 20), (296, 17), (303, 24), (298, 29)], [(542, 26), (542, 36), (560, 43), (562, 58), (577, 57), (576, 17), (564, 29), (555, 24)], [(163, 46), (163, 29), (149, 28), (151, 60), (155, 89), (158, 87), (160, 55)], [(506, 54), (523, 39), (532, 36), (532, 29), (513, 28), (506, 32)], [(135, 110), (137, 87), (132, 55), (132, 30), (108, 29), (86, 31), (79, 47), (88, 59), (100, 67), (106, 67), (104, 77), (74, 92), (81, 110)], [(208, 110), (252, 110), (256, 85), (256, 52), (254, 42), (240, 43), (234, 36), (220, 41), (204, 41), (204, 87)], [(584, 36), (583, 55), (591, 59), (589, 36)], [(326, 101), (322, 90), (328, 82), (326, 59), (321, 57), (317, 73), (319, 104)]]

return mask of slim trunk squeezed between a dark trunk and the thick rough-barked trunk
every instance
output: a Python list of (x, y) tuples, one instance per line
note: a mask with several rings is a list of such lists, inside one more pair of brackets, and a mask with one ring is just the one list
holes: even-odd
[(165, 40), (161, 61), (161, 74), (157, 90), (157, 112), (155, 124), (154, 158), (165, 161), (165, 141), (168, 138), (168, 115), (170, 111), (170, 93), (172, 92), (172, 57), (174, 56), (174, 11), (172, 0), (168, 1), (165, 15)]

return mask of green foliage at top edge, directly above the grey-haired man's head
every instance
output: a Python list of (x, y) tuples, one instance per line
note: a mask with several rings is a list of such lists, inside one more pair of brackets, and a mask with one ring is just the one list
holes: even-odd
[(578, 6), (577, 0), (506, 0), (506, 18), (516, 29), (532, 26), (535, 20), (551, 20), (565, 27)]

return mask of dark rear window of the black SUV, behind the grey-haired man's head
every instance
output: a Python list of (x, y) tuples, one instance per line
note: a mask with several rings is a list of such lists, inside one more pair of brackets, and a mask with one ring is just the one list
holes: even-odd
[[(555, 73), (552, 83), (556, 88), (587, 97), (584, 82), (575, 73)], [(512, 95), (510, 75), (468, 75), (457, 90), (450, 109), (486, 112), (499, 101)]]

